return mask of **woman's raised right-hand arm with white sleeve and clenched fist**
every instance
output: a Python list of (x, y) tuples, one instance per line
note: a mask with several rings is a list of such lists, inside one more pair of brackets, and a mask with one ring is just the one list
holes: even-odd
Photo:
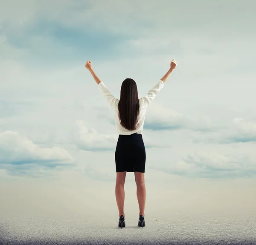
[(145, 97), (143, 97), (143, 104), (145, 107), (148, 107), (151, 101), (157, 96), (157, 93), (163, 88), (164, 83), (169, 78), (169, 76), (175, 69), (176, 65), (177, 62), (175, 60), (172, 60), (170, 69), (168, 70), (168, 72), (166, 72), (166, 75), (164, 75), (163, 78), (161, 78), (161, 80), (152, 89), (148, 91), (148, 94)]

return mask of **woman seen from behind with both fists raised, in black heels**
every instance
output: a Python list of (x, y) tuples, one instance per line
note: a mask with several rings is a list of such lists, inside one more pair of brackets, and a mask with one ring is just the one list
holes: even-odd
[(93, 71), (92, 63), (87, 61), (85, 67), (90, 71), (100, 91), (111, 104), (115, 112), (116, 129), (119, 138), (116, 145), (116, 203), (119, 210), (119, 227), (125, 227), (125, 176), (127, 172), (134, 172), (137, 184), (137, 199), (140, 213), (138, 226), (145, 226), (144, 210), (146, 201), (145, 190), (145, 146), (142, 138), (142, 130), (145, 120), (145, 111), (151, 101), (156, 97), (157, 92), (162, 88), (166, 80), (175, 69), (177, 62), (172, 60), (170, 69), (157, 84), (149, 90), (145, 97), (138, 98), (136, 82), (126, 78), (122, 82), (120, 100), (115, 98), (107, 89), (105, 84)]

